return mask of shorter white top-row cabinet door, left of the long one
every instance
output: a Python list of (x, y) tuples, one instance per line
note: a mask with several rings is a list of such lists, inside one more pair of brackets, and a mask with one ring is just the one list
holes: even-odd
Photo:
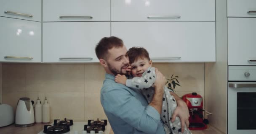
[(110, 0), (43, 0), (49, 21), (110, 21)]

